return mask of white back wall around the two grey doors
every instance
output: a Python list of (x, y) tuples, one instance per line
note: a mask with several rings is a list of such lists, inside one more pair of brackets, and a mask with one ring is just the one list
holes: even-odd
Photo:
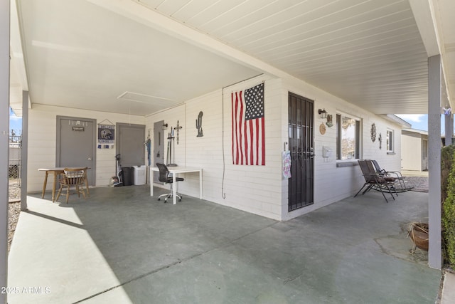
[[(39, 168), (55, 167), (55, 148), (57, 135), (57, 116), (90, 118), (144, 125), (143, 116), (122, 115), (109, 112), (93, 112), (74, 108), (61, 108), (48, 105), (33, 105), (28, 110), (28, 192), (43, 189), (44, 172)], [(96, 127), (96, 126), (95, 126)], [(107, 186), (115, 174), (115, 149), (97, 149), (95, 186)], [(52, 181), (48, 180), (46, 189), (52, 189)]]

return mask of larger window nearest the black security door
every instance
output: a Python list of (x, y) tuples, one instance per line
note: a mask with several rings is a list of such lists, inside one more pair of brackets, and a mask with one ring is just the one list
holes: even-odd
[(360, 158), (360, 119), (336, 115), (336, 159)]

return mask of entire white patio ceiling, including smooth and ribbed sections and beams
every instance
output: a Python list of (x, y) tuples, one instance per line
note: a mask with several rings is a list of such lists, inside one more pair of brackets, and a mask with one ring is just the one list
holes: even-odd
[(422, 114), (427, 58), (438, 53), (444, 99), (455, 95), (452, 0), (11, 6), (11, 106), (19, 115), (21, 90), (32, 108), (148, 115), (261, 73), (304, 80), (376, 114)]

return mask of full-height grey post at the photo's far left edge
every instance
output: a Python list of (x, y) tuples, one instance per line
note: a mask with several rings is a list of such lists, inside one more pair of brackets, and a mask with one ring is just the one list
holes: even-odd
[[(0, 66), (0, 288), (2, 288), (6, 287), (8, 282), (9, 0), (0, 0)], [(5, 293), (0, 293), (0, 303), (7, 303)]]

